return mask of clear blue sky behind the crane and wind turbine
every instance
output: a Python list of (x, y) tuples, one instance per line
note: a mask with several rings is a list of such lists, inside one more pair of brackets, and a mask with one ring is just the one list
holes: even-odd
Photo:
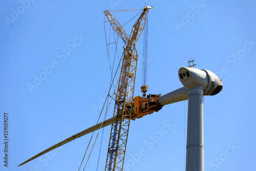
[[(17, 165), (96, 123), (95, 106), (101, 108), (111, 78), (103, 11), (139, 9), (145, 1), (0, 3), (1, 142), (4, 112), (9, 116), (9, 168), (4, 167), (0, 143), (0, 169), (78, 170), (92, 134)], [(193, 0), (146, 1), (146, 5), (154, 7), (148, 16), (148, 93), (163, 95), (182, 87), (179, 67), (194, 57), (197, 68), (223, 79), (221, 93), (204, 97), (205, 170), (253, 168), (256, 3)], [(121, 24), (136, 14), (113, 13)], [(125, 30), (130, 34), (131, 27)], [(135, 95), (142, 96), (143, 37), (137, 51)], [(106, 117), (112, 116), (110, 109)], [(184, 170), (186, 117), (183, 101), (131, 121), (125, 170)], [(162, 132), (163, 127), (168, 131)], [(86, 170), (96, 170), (98, 162), (98, 170), (104, 170), (110, 126), (103, 136), (102, 131)]]

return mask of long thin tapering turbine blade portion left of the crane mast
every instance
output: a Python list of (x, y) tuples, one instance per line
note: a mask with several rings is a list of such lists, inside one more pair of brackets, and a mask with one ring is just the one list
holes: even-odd
[(84, 130), (84, 131), (82, 131), (82, 132), (80, 132), (78, 134), (73, 135), (72, 137), (67, 138), (66, 140), (63, 140), (63, 141), (61, 141), (61, 142), (51, 146), (50, 148), (47, 148), (45, 151), (42, 151), (41, 153), (35, 155), (34, 157), (28, 159), (27, 161), (23, 162), (22, 164), (20, 164), (18, 166), (21, 166), (21, 165), (23, 165), (23, 164), (25, 164), (25, 163), (27, 163), (27, 162), (29, 162), (31, 160), (34, 160), (35, 158), (37, 158), (37, 157), (39, 157), (39, 156), (41, 156), (43, 154), (46, 154), (46, 153), (52, 151), (53, 149), (55, 149), (55, 148), (57, 148), (57, 147), (59, 147), (59, 146), (61, 146), (63, 144), (66, 144), (66, 143), (68, 143), (68, 142), (70, 142), (70, 141), (72, 141), (74, 139), (77, 139), (77, 138), (79, 138), (79, 137), (81, 137), (83, 135), (86, 135), (86, 134), (89, 134), (89, 133), (91, 133), (91, 132), (93, 132), (95, 130), (98, 130), (98, 129), (100, 129), (100, 127), (108, 126), (108, 125), (112, 124), (115, 121), (116, 121), (116, 119), (110, 118), (110, 119), (105, 120), (105, 121), (103, 121), (101, 123), (98, 123), (97, 125), (89, 127), (89, 129), (86, 129), (86, 130)]

